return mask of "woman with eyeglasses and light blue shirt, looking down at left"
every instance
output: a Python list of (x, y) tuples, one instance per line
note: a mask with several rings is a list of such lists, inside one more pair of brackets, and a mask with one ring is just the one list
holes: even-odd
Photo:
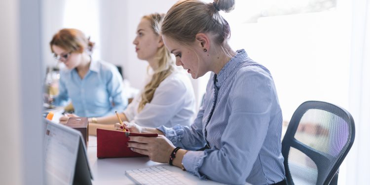
[(77, 29), (62, 29), (50, 41), (54, 58), (66, 66), (60, 70), (59, 94), (53, 104), (63, 106), (71, 100), (75, 114), (81, 117), (105, 116), (127, 106), (122, 76), (114, 65), (93, 60), (93, 47)]

